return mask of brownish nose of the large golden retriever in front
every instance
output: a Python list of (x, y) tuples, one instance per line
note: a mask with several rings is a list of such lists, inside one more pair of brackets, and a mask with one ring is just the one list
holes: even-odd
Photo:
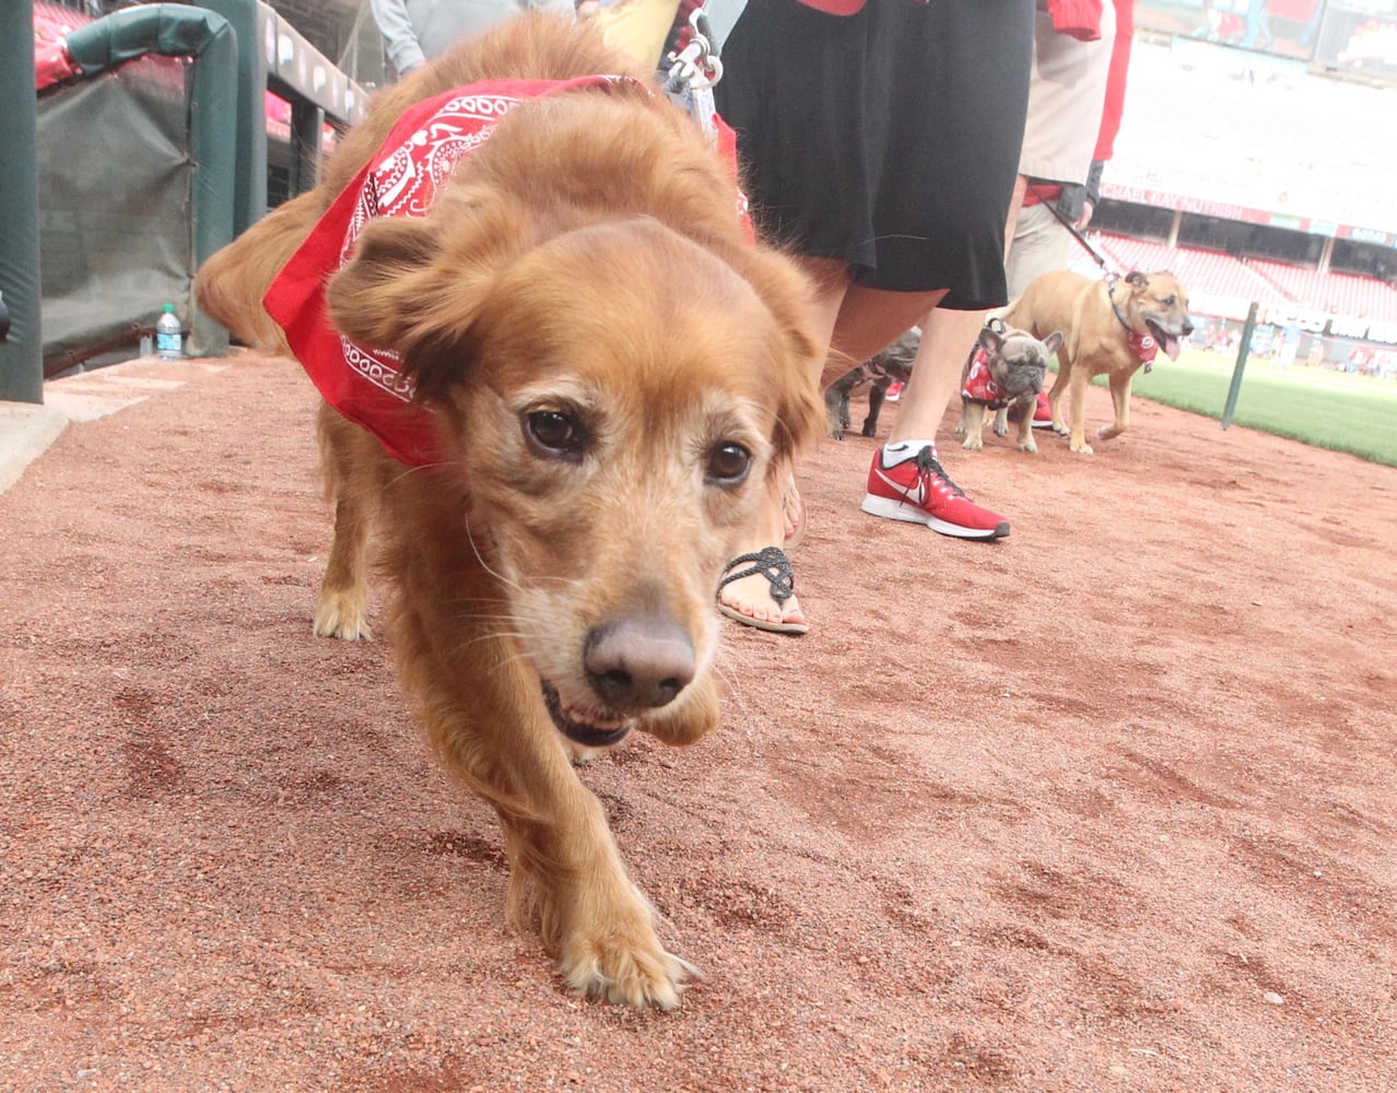
[(627, 616), (587, 636), (583, 667), (592, 690), (609, 706), (666, 706), (694, 678), (694, 647), (672, 622)]

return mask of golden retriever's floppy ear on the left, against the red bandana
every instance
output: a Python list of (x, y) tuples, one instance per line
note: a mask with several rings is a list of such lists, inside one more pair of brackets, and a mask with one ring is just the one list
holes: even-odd
[(334, 324), (397, 352), (418, 397), (440, 400), (469, 363), (461, 347), (496, 277), (532, 239), (524, 214), (493, 193), (446, 194), (425, 218), (374, 219), (326, 288)]

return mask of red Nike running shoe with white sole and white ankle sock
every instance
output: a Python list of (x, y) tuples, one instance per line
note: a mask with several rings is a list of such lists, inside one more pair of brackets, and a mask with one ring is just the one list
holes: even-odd
[[(891, 463), (888, 463), (891, 460)], [(1009, 521), (970, 498), (936, 458), (935, 444), (884, 444), (873, 453), (863, 512), (925, 524), (963, 540), (997, 540)]]

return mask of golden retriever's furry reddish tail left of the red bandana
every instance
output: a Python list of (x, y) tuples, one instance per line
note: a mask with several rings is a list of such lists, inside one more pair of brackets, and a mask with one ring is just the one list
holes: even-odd
[(263, 296), (272, 278), (296, 252), (324, 211), (320, 190), (278, 205), (228, 246), (218, 250), (194, 277), (200, 306), (228, 331), (263, 352), (291, 355), (291, 348)]

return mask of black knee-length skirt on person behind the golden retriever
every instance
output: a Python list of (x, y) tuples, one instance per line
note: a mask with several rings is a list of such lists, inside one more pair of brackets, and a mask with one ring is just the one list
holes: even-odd
[(1004, 303), (1032, 34), (1034, 0), (749, 0), (715, 94), (757, 229), (861, 285)]

